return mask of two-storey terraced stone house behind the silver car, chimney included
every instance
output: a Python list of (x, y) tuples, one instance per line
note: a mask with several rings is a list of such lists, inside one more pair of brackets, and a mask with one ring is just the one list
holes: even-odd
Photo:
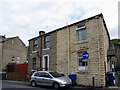
[(88, 86), (105, 86), (105, 73), (109, 71), (107, 50), (109, 33), (102, 14), (61, 27), (51, 32), (39, 32), (29, 40), (28, 72), (53, 70), (65, 75), (76, 74), (77, 84), (85, 85), (84, 52), (87, 62)]

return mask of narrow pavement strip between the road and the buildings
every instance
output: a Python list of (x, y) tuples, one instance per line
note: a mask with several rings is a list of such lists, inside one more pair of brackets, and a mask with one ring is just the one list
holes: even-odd
[[(18, 83), (18, 84), (24, 84), (24, 85), (27, 85), (27, 86), (30, 86), (30, 82), (23, 82), (23, 81), (12, 81), (12, 80), (4, 80), (5, 82), (10, 82), (10, 83)], [(83, 89), (103, 89), (103, 90), (120, 90), (120, 87), (119, 86), (109, 86), (109, 87), (104, 87), (104, 88), (98, 88), (98, 87), (82, 87), (80, 85), (72, 85), (72, 88), (83, 88)]]

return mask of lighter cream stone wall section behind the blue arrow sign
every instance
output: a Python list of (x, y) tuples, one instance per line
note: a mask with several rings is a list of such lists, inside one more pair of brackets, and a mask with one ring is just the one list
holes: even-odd
[(66, 75), (77, 74), (77, 83), (85, 85), (85, 71), (78, 70), (77, 54), (87, 51), (90, 55), (87, 71), (88, 85), (92, 85), (92, 77), (94, 77), (95, 86), (105, 86), (104, 63), (107, 61), (109, 38), (103, 25), (103, 19), (96, 17), (81, 23), (86, 24), (87, 40), (85, 41), (77, 41), (76, 25), (57, 32), (57, 71)]

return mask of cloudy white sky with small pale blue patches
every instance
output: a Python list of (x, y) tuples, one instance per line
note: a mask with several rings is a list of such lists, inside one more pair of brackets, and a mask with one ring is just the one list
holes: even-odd
[(0, 0), (0, 35), (28, 40), (102, 13), (110, 38), (118, 38), (119, 0)]

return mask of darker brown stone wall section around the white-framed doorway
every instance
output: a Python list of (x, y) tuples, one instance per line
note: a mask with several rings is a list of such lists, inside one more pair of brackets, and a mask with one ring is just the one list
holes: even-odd
[[(50, 38), (50, 48), (49, 49), (44, 49), (44, 37), (49, 35)], [(56, 32), (53, 33), (47, 33), (45, 35), (42, 36), (42, 61), (41, 61), (41, 65), (43, 67), (43, 57), (44, 55), (48, 55), (49, 56), (49, 70), (51, 71), (56, 71), (56, 53), (57, 53), (57, 49), (56, 49)], [(37, 39), (38, 41), (38, 48), (36, 51), (33, 51), (33, 41)], [(29, 50), (28, 50), (28, 73), (31, 73), (31, 70), (33, 69), (33, 58), (36, 57), (37, 61), (36, 61), (36, 68), (40, 68), (40, 54), (41, 54), (41, 37), (38, 36), (32, 40), (29, 41)], [(38, 55), (37, 55), (38, 54)]]

